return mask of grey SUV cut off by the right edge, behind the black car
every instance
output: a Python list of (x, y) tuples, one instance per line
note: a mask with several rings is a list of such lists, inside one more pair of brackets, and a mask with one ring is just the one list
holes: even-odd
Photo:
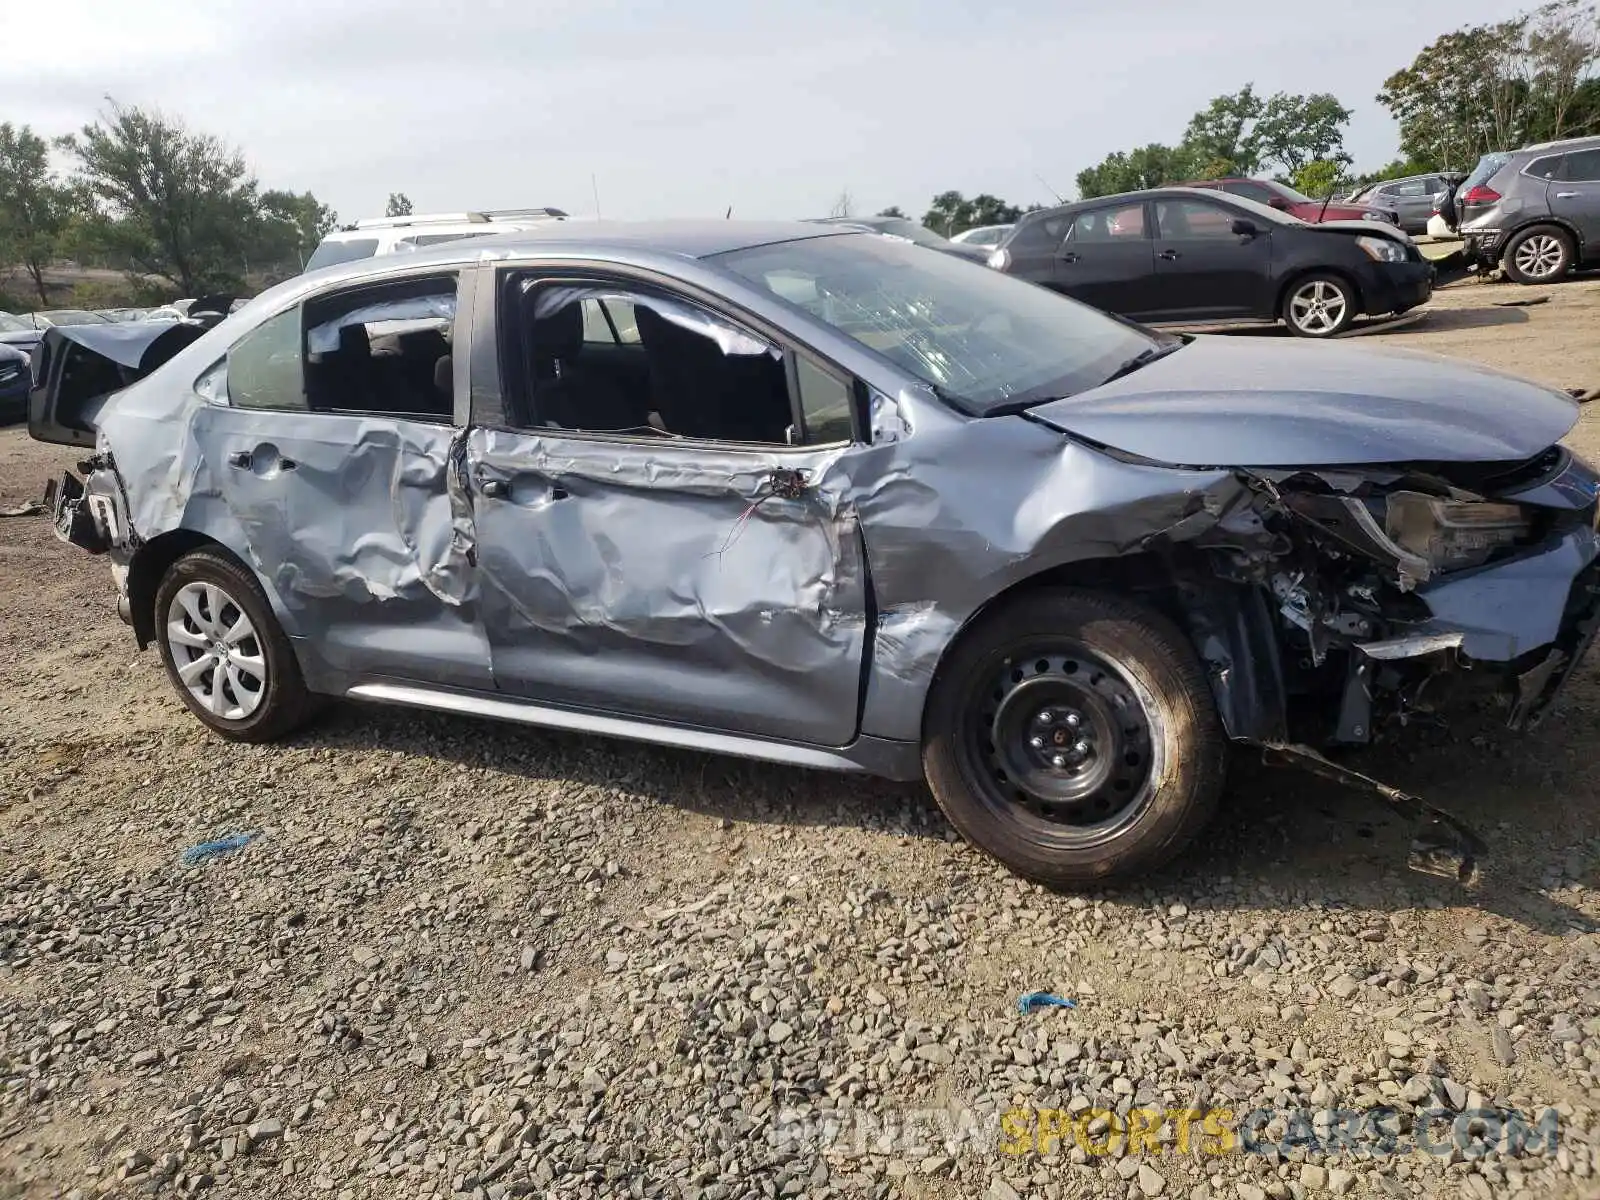
[(1600, 262), (1600, 138), (1478, 158), (1456, 190), (1467, 261), (1517, 283), (1550, 283)]

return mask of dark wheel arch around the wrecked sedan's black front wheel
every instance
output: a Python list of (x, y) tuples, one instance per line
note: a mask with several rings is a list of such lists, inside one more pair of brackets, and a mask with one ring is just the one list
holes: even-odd
[(1229, 738), (1280, 741), (1286, 736), (1283, 666), (1272, 610), (1264, 594), (1256, 587), (1182, 570), (1154, 552), (1080, 558), (1016, 579), (990, 595), (939, 651), (922, 698), (918, 726), (925, 736), (930, 698), (957, 645), (1016, 597), (1067, 587), (1134, 598), (1173, 621), (1206, 670), (1211, 696)]

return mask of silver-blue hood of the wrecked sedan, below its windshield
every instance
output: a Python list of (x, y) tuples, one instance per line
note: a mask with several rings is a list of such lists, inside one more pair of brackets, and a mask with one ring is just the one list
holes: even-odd
[(1578, 421), (1571, 397), (1458, 358), (1226, 336), (1027, 413), (1158, 462), (1230, 467), (1518, 461)]

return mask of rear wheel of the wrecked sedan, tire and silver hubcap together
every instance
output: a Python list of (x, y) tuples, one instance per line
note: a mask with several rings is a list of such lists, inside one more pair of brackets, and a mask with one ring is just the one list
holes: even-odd
[(317, 710), (261, 586), (214, 550), (168, 568), (155, 590), (155, 638), (178, 696), (229, 741), (274, 741)]

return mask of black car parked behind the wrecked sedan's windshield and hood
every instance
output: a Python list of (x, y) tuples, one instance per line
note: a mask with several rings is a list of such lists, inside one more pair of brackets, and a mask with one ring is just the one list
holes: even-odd
[(1150, 325), (1282, 320), (1302, 338), (1333, 338), (1434, 291), (1432, 264), (1392, 226), (1314, 226), (1192, 187), (1029, 213), (989, 266)]

